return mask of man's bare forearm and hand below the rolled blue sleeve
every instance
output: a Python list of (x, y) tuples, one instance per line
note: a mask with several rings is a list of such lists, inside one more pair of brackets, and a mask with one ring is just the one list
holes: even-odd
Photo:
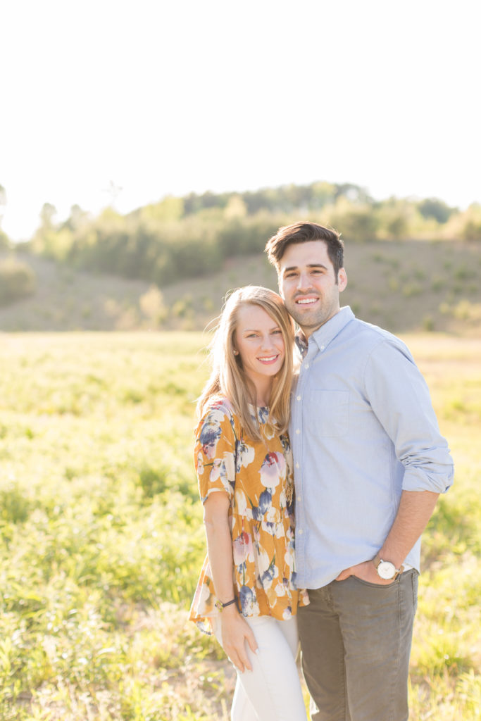
[[(431, 491), (402, 492), (396, 518), (394, 518), (391, 530), (378, 552), (381, 559), (394, 563), (396, 568), (400, 567), (427, 526), (436, 506), (438, 495)], [(369, 583), (379, 585), (392, 583), (392, 580), (379, 578), (372, 559), (346, 568), (340, 572), (336, 580), (343, 581), (349, 576), (357, 576)]]

